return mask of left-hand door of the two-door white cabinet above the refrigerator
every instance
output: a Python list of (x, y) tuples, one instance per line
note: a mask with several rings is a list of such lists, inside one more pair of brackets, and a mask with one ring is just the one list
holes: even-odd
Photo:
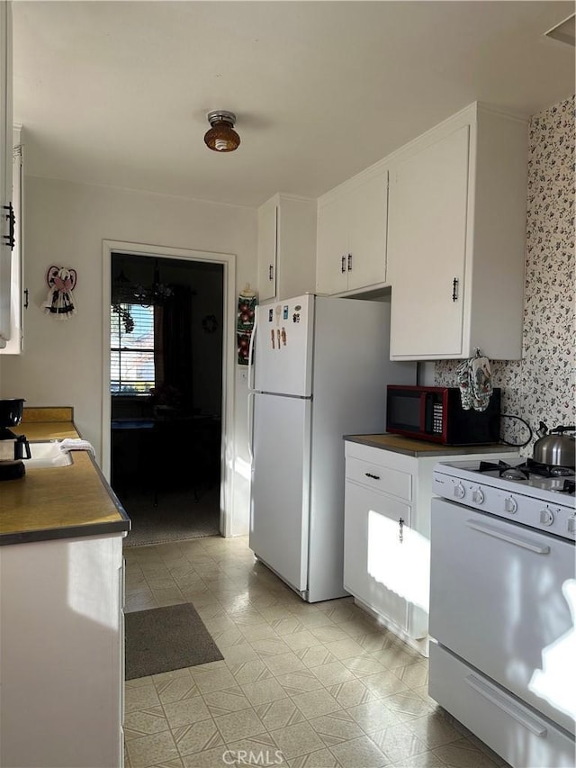
[(339, 197), (318, 210), (317, 293), (340, 294), (347, 290), (347, 255), (347, 213)]

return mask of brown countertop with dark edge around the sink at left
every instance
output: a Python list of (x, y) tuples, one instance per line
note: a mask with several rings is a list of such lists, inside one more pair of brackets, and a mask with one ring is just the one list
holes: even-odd
[[(27, 409), (25, 409), (26, 411)], [(78, 438), (67, 409), (33, 409), (12, 431), (29, 441)], [(50, 411), (47, 413), (40, 411)], [(69, 420), (36, 420), (61, 416)], [(130, 530), (130, 519), (91, 454), (73, 451), (72, 464), (30, 469), (0, 483), (0, 545), (100, 536)]]

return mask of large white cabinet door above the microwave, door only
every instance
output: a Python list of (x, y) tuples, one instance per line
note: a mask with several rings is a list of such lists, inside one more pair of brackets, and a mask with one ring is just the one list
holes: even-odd
[(391, 170), (392, 359), (462, 352), (469, 126)]

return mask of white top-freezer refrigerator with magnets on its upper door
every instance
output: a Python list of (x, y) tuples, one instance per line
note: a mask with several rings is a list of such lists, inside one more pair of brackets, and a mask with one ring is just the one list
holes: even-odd
[(383, 432), (386, 385), (415, 364), (389, 359), (389, 301), (265, 304), (254, 339), (249, 546), (304, 600), (342, 597), (343, 436)]

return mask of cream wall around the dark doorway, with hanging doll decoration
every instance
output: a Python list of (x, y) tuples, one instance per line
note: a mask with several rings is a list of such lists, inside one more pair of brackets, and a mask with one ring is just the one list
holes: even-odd
[[(103, 239), (237, 255), (237, 283), (256, 282), (256, 210), (167, 195), (26, 177), (24, 354), (0, 359), (0, 395), (28, 405), (73, 405), (83, 436), (101, 450)], [(46, 271), (74, 267), (78, 313), (69, 321), (45, 315)], [(237, 285), (237, 292), (238, 292)], [(234, 317), (232, 321), (236, 321)], [(240, 462), (247, 461), (246, 383), (237, 371), (235, 423)], [(248, 483), (234, 482), (232, 532), (247, 530)]]

